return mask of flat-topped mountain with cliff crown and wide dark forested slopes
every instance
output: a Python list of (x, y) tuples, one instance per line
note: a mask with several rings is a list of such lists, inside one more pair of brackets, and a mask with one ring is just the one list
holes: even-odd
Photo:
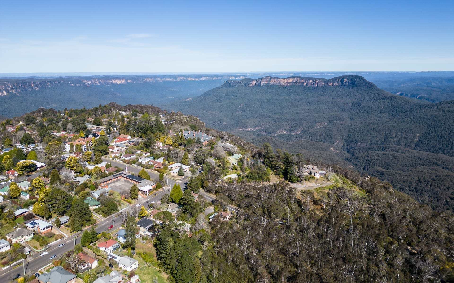
[(256, 144), (343, 163), (453, 210), (454, 101), (395, 96), (360, 76), (227, 80), (169, 104)]

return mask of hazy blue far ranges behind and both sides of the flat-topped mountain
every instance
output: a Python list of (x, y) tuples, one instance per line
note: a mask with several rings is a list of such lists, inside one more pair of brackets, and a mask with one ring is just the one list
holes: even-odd
[[(37, 107), (93, 107), (116, 101), (156, 106), (201, 95), (226, 80), (260, 77), (326, 78), (359, 75), (401, 96), (431, 102), (454, 99), (454, 72), (239, 72), (221, 74), (0, 73), (0, 115), (13, 117)], [(405, 80), (423, 85), (406, 83)], [(451, 79), (449, 80), (449, 77)], [(445, 79), (443, 79), (445, 78)], [(437, 85), (428, 84), (429, 82)]]

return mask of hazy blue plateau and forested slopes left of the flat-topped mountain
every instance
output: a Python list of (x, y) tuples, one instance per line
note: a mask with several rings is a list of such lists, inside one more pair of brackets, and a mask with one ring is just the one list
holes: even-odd
[(1, 114), (12, 117), (38, 107), (90, 108), (111, 101), (160, 105), (198, 96), (220, 86), (226, 79), (242, 78), (234, 75), (162, 75), (1, 79), (0, 103), (7, 105)]

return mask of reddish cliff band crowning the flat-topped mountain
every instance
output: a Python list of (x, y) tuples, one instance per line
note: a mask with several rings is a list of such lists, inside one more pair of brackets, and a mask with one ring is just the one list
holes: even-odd
[(373, 83), (361, 76), (341, 76), (332, 79), (313, 77), (261, 77), (258, 79), (243, 79), (241, 81), (227, 80), (224, 86), (357, 86)]

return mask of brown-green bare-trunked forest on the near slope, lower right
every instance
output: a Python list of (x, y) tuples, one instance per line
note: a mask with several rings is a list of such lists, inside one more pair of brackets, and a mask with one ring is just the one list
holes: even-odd
[(242, 211), (212, 223), (215, 282), (451, 282), (452, 215), (349, 177), (360, 186), (301, 198), (284, 183), (217, 186)]

